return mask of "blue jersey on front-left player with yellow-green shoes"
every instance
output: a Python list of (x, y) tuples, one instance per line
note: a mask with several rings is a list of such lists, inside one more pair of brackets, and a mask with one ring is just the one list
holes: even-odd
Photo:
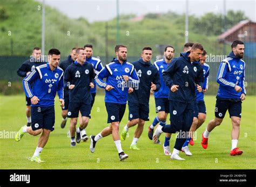
[[(31, 89), (30, 83), (33, 83)], [(23, 89), (26, 96), (32, 98), (37, 96), (39, 102), (31, 106), (53, 106), (56, 92), (63, 99), (63, 70), (57, 67), (51, 70), (49, 63), (37, 66), (28, 76), (23, 79)]]

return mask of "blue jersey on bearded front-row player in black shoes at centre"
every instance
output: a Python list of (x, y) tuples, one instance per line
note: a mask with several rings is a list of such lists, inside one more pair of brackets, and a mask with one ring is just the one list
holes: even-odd
[[(123, 75), (129, 76), (129, 81), (125, 82)], [(103, 81), (106, 78), (106, 82)], [(129, 87), (132, 84), (139, 83), (139, 77), (133, 64), (123, 62), (121, 64), (118, 60), (106, 64), (106, 66), (99, 71), (95, 77), (96, 84), (100, 88), (106, 88), (107, 85), (114, 87), (112, 90), (105, 90), (106, 103), (126, 104)]]

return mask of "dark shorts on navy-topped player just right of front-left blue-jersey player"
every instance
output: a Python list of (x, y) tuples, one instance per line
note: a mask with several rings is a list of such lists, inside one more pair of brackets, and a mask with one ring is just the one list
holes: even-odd
[(91, 118), (91, 104), (84, 102), (70, 102), (68, 118), (78, 118), (79, 111), (81, 112), (82, 116)]

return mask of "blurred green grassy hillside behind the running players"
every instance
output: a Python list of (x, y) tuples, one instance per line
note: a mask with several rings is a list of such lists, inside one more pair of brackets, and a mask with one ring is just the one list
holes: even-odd
[[(0, 0), (0, 2), (0, 55), (29, 56), (33, 47), (41, 46), (42, 5), (32, 0)], [(139, 21), (134, 21), (132, 17), (134, 16), (120, 16), (120, 43), (128, 46), (129, 56), (138, 56), (144, 46), (151, 46), (156, 56), (159, 55), (156, 45), (167, 44), (174, 46), (176, 56), (179, 55), (185, 40), (184, 15), (172, 12), (161, 15), (149, 13), (143, 19), (138, 19)], [(218, 15), (215, 17), (221, 19)], [(190, 16), (189, 41), (200, 42), (208, 53), (222, 54), (223, 49), (216, 40), (217, 36), (214, 35), (220, 32), (221, 21), (215, 23), (214, 29), (218, 30), (212, 33), (211, 22), (202, 24), (202, 21), (217, 20), (215, 17), (212, 13), (203, 18)], [(243, 18), (239, 17), (239, 20)], [(49, 6), (46, 6), (45, 20), (46, 52), (55, 47), (60, 49), (63, 55), (68, 55), (72, 47), (91, 43), (96, 56), (106, 55), (105, 21), (90, 24), (84, 18), (71, 19)], [(107, 21), (107, 24), (109, 28), (107, 49), (110, 59), (114, 55), (113, 48), (116, 45), (116, 19)], [(206, 25), (208, 30), (205, 28)], [(10, 36), (9, 32), (11, 32)]]

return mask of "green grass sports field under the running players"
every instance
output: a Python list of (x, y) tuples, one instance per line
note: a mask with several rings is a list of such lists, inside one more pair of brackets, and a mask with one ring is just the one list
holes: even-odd
[[(130, 136), (122, 142), (123, 150), (129, 159), (120, 162), (112, 136), (99, 140), (95, 153), (91, 153), (89, 142), (80, 142), (76, 147), (70, 147), (70, 138), (66, 133), (69, 130), (70, 120), (64, 129), (60, 128), (61, 109), (56, 97), (56, 123), (55, 131), (50, 134), (50, 139), (41, 153), (45, 162), (31, 162), (27, 157), (35, 151), (38, 136), (25, 134), (20, 142), (11, 139), (11, 132), (18, 131), (26, 124), (25, 96), (0, 96), (0, 169), (255, 169), (255, 121), (256, 97), (247, 96), (242, 104), (242, 120), (238, 147), (244, 151), (241, 156), (230, 156), (231, 149), (231, 121), (228, 113), (219, 127), (210, 134), (208, 148), (201, 147), (201, 133), (214, 117), (215, 97), (206, 96), (207, 118), (197, 131), (195, 145), (190, 146), (193, 156), (180, 153), (185, 161), (170, 160), (164, 155), (162, 145), (154, 144), (147, 138), (147, 127), (154, 117), (154, 98), (150, 99), (150, 119), (146, 121), (142, 137), (138, 141), (140, 150), (129, 149), (135, 127), (130, 128)], [(107, 126), (107, 113), (105, 110), (104, 96), (97, 95), (91, 112), (92, 119), (86, 128), (87, 135), (97, 134)], [(168, 117), (169, 118), (169, 117)], [(128, 119), (128, 107), (120, 124), (122, 131)], [(9, 133), (9, 134), (8, 134)], [(160, 136), (164, 142), (164, 135)], [(170, 149), (174, 145), (174, 134), (170, 140)]]

